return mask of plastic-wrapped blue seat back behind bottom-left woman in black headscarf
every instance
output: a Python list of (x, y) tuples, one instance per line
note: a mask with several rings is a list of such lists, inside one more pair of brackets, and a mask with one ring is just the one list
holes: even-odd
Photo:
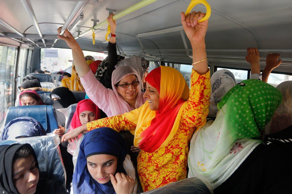
[(15, 141), (5, 140), (1, 142), (2, 145), (9, 145), (13, 143), (31, 144), (39, 163), (40, 177), (44, 177), (49, 180), (59, 180), (65, 187), (66, 171), (61, 157), (59, 136), (54, 133), (50, 133), (46, 136), (19, 138), (15, 139)]

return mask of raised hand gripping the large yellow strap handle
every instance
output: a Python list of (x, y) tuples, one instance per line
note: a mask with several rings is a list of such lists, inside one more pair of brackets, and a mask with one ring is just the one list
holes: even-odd
[(201, 13), (193, 11), (192, 13), (188, 13), (185, 16), (185, 13), (180, 13), (181, 15), (181, 22), (183, 29), (191, 41), (191, 44), (205, 44), (205, 35), (208, 28), (208, 20), (202, 21), (198, 23), (200, 19), (202, 19), (206, 13)]

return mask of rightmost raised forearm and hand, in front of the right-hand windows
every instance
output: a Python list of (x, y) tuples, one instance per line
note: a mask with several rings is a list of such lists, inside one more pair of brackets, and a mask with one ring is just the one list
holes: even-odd
[(263, 73), (261, 73), (262, 81), (266, 83), (268, 82), (270, 73), (273, 71), (273, 69), (275, 69), (282, 63), (282, 60), (279, 58), (280, 58), (280, 54), (278, 53), (270, 53), (267, 55), (266, 66), (263, 70)]

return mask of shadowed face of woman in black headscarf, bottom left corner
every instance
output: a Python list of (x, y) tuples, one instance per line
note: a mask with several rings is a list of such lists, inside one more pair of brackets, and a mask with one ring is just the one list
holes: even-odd
[(13, 183), (20, 194), (33, 194), (39, 181), (39, 169), (32, 155), (18, 158), (13, 164)]

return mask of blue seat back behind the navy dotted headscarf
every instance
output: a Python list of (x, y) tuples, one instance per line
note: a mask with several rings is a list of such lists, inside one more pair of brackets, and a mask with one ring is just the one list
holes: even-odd
[(9, 107), (4, 120), (4, 126), (9, 121), (21, 116), (29, 116), (36, 119), (42, 124), (47, 133), (51, 133), (59, 128), (53, 107), (46, 105)]

